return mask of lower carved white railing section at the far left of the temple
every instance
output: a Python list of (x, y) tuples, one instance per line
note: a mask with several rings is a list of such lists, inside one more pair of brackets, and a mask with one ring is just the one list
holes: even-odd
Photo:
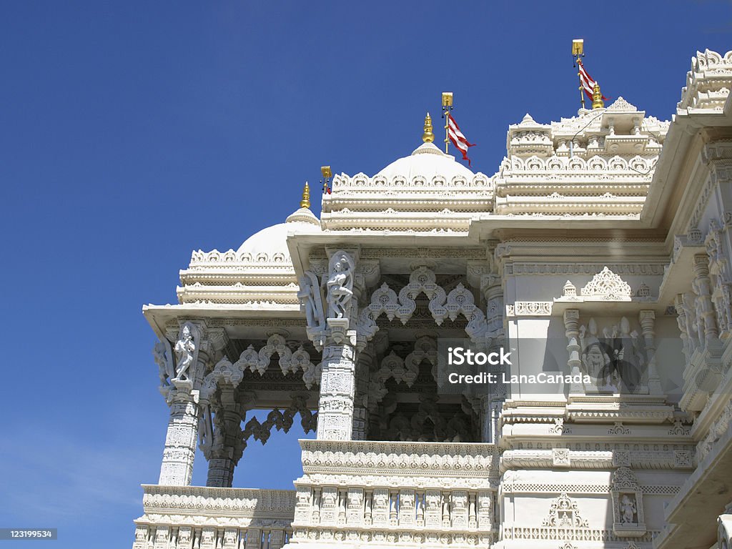
[(143, 485), (132, 549), (280, 549), (294, 490)]

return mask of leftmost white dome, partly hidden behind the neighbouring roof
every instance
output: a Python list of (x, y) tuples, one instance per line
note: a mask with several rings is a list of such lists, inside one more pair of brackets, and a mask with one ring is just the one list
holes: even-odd
[(237, 255), (248, 253), (253, 261), (261, 261), (264, 256), (269, 261), (290, 262), (290, 251), (287, 248), (288, 233), (320, 231), (320, 221), (307, 208), (300, 208), (290, 214), (285, 223), (277, 223), (263, 228), (244, 241), (236, 250)]

